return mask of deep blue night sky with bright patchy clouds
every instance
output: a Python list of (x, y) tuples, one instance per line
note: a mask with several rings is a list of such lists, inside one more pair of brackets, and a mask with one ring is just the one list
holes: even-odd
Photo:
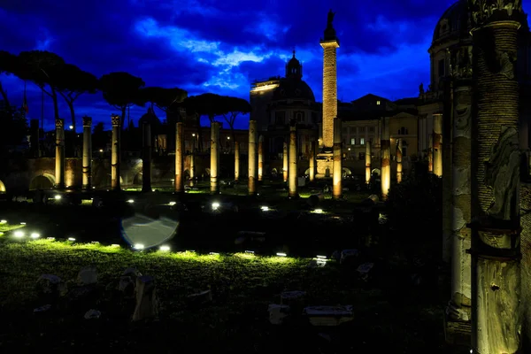
[[(531, 0), (524, 1), (524, 9)], [(49, 50), (100, 77), (125, 71), (146, 86), (186, 89), (249, 99), (250, 82), (283, 75), (296, 49), (304, 80), (322, 99), (319, 38), (327, 12), (336, 12), (338, 98), (367, 93), (398, 99), (417, 96), (429, 81), (433, 31), (452, 0), (4, 0), (0, 4), (0, 49)], [(23, 82), (0, 76), (12, 104), (22, 103)], [(41, 118), (41, 91), (27, 84), (29, 118)], [(68, 108), (59, 98), (61, 116)], [(75, 104), (83, 115), (110, 127), (101, 92)], [(146, 108), (131, 108), (135, 121)], [(158, 116), (164, 119), (162, 112)], [(44, 119), (53, 125), (51, 100)], [(237, 127), (247, 127), (240, 119)]]

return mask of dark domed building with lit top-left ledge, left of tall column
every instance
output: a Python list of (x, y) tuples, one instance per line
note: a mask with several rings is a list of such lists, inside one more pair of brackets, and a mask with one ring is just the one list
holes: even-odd
[(296, 58), (295, 50), (286, 64), (285, 77), (253, 83), (250, 104), (250, 119), (257, 120), (259, 134), (264, 136), (266, 161), (281, 159), (292, 119), (297, 126), (299, 156), (309, 158), (312, 141), (319, 139), (321, 106), (303, 81), (303, 65)]

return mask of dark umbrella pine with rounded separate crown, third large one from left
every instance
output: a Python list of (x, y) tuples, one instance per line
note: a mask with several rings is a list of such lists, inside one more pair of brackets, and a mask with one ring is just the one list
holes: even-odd
[(127, 107), (137, 103), (139, 89), (145, 85), (141, 78), (130, 73), (106, 73), (98, 83), (98, 89), (104, 94), (104, 100), (121, 113), (120, 123), (124, 129)]

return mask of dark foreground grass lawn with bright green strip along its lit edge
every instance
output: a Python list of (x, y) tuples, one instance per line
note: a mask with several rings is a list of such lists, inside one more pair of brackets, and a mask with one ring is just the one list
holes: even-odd
[[(12, 242), (6, 234), (0, 236), (0, 351), (450, 352), (443, 346), (440, 306), (419, 301), (426, 294), (413, 294), (408, 286), (389, 291), (368, 284), (358, 280), (355, 270), (334, 262), (324, 268), (308, 263), (249, 254), (133, 253), (98, 244)], [(73, 289), (81, 266), (88, 265), (97, 267), (102, 288), (128, 266), (154, 276), (160, 320), (133, 324), (128, 320), (132, 312), (111, 315), (118, 304), (105, 296), (96, 308), (100, 319), (83, 319), (89, 309), (33, 312), (42, 305), (35, 293), (41, 274), (56, 274)], [(204, 289), (212, 289), (212, 303), (190, 306), (186, 296)], [(344, 327), (317, 328), (304, 320), (270, 325), (267, 305), (279, 304), (285, 289), (307, 291), (308, 304), (353, 304), (355, 319)], [(398, 299), (397, 292), (404, 296)]]

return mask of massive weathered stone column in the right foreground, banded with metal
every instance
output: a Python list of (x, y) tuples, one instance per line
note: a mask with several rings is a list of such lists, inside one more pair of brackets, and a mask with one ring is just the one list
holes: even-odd
[[(468, 1), (473, 35), (472, 350), (521, 350), (518, 0)], [(489, 9), (484, 11), (483, 6)]]

